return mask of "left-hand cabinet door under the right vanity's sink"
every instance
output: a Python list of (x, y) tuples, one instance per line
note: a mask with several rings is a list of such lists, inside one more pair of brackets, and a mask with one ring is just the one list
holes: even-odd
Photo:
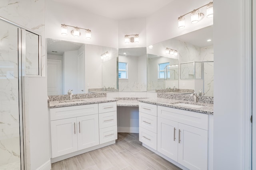
[(157, 151), (178, 162), (178, 123), (158, 117)]

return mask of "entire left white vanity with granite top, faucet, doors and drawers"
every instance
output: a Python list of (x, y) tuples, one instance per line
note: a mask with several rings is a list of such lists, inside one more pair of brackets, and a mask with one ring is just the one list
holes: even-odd
[(52, 163), (116, 142), (116, 99), (52, 100), (48, 108)]

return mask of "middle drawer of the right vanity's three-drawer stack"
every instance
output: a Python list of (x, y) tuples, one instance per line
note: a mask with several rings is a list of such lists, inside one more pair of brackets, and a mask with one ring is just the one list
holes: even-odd
[(139, 112), (139, 125), (144, 129), (157, 132), (157, 117), (146, 113)]

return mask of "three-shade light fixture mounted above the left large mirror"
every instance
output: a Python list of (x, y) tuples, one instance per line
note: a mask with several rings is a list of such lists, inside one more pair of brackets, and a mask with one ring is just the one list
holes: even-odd
[(80, 27), (74, 27), (71, 25), (66, 25), (66, 24), (61, 24), (61, 35), (68, 35), (68, 27), (72, 27), (74, 29), (72, 29), (71, 34), (74, 37), (80, 37), (81, 33), (80, 33), (80, 29), (84, 29), (85, 30), (85, 38), (86, 39), (91, 39), (92, 35), (91, 35), (91, 30), (90, 29), (85, 29), (85, 28), (80, 28)]

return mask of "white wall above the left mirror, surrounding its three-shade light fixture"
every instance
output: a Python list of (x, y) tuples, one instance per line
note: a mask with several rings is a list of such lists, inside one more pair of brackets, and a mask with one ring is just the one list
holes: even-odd
[[(60, 24), (90, 29), (92, 39), (85, 39), (82, 37), (84, 34), (75, 38), (69, 32), (71, 28), (68, 29), (68, 35), (61, 35)], [(118, 21), (110, 18), (46, 0), (46, 25), (46, 38), (118, 48)]]

